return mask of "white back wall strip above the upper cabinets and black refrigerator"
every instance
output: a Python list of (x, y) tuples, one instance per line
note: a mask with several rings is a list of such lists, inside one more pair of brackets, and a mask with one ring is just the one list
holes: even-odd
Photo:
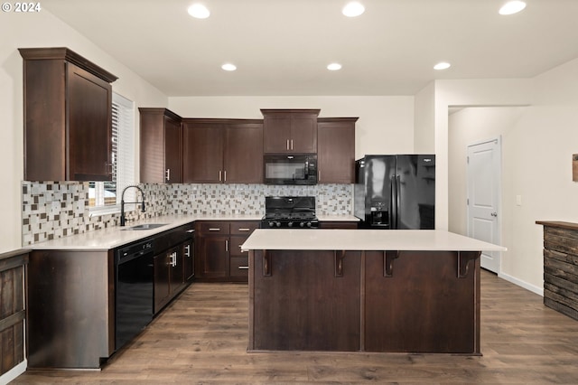
[(359, 117), (356, 158), (414, 152), (414, 97), (169, 98), (182, 117), (263, 118), (261, 108), (319, 108), (320, 117)]

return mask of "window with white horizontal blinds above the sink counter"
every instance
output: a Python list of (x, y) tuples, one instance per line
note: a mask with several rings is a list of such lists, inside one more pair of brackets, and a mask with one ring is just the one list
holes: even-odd
[[(91, 213), (117, 211), (123, 189), (135, 182), (135, 107), (117, 93), (112, 95), (112, 181), (89, 183)], [(135, 191), (126, 191), (125, 201), (135, 202)]]

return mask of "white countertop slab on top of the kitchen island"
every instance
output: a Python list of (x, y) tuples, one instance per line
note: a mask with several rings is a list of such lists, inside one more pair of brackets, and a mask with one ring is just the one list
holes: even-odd
[(444, 230), (258, 229), (243, 250), (505, 251), (506, 248)]

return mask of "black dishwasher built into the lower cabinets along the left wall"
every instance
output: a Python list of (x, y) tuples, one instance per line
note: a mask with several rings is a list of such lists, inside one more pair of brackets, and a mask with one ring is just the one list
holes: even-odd
[(118, 249), (116, 258), (115, 350), (153, 320), (154, 248), (147, 239)]

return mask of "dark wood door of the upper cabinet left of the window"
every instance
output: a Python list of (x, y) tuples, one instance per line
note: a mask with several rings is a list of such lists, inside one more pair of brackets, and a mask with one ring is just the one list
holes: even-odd
[[(73, 181), (112, 179), (112, 87), (67, 63), (69, 162)], [(51, 151), (51, 149), (46, 149)]]

